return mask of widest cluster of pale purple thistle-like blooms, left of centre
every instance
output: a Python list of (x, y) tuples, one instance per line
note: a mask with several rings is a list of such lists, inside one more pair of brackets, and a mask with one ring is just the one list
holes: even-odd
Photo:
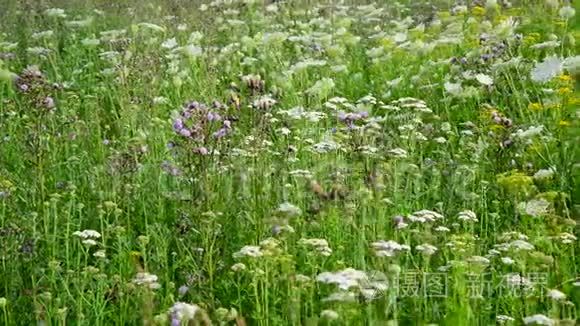
[(173, 120), (173, 131), (179, 139), (201, 145), (193, 149), (195, 153), (208, 154), (207, 143), (218, 140), (232, 131), (232, 123), (220, 114), (224, 108), (214, 101), (211, 107), (196, 101), (190, 102)]

